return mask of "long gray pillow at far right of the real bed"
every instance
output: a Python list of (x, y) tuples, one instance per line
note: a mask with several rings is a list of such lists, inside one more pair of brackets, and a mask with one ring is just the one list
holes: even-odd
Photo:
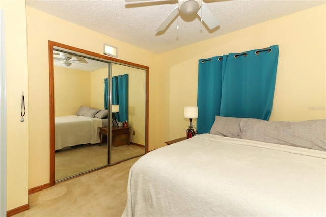
[(300, 122), (244, 119), (241, 139), (326, 151), (326, 119)]

